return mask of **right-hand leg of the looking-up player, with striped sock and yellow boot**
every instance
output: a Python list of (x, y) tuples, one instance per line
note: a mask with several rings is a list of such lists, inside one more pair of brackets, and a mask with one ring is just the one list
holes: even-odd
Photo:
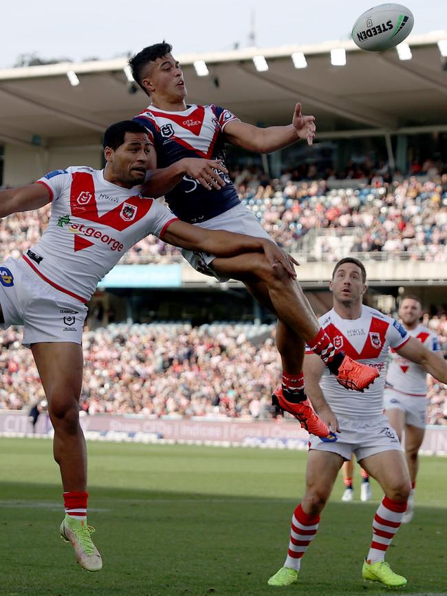
[(385, 562), (386, 549), (402, 523), (411, 490), (404, 454), (397, 449), (382, 451), (363, 458), (360, 464), (385, 493), (373, 519), (373, 539), (363, 564), (363, 578), (388, 587), (404, 586), (405, 577), (394, 573)]

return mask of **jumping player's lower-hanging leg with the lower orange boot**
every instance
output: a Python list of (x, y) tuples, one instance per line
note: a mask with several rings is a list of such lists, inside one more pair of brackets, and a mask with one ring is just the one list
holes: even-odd
[[(246, 287), (250, 293), (276, 317), (276, 312), (267, 286), (262, 281), (248, 283)], [(307, 399), (304, 388), (303, 361), (305, 344), (303, 339), (278, 319), (276, 326), (276, 347), (281, 355), (283, 366), (282, 383), (274, 390), (272, 404), (276, 411), (286, 410), (299, 421), (308, 432), (317, 436), (327, 437), (329, 427), (315, 414)]]

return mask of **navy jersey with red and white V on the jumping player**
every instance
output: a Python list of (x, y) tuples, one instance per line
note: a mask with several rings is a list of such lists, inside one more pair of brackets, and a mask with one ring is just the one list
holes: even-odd
[[(166, 168), (183, 158), (218, 159), (225, 164), (223, 129), (239, 120), (228, 109), (217, 105), (188, 105), (184, 111), (164, 111), (147, 107), (133, 118), (149, 132), (157, 152), (157, 167)], [(239, 204), (236, 189), (228, 175), (219, 191), (207, 190), (185, 175), (165, 198), (170, 209), (184, 222), (195, 224), (210, 220)]]

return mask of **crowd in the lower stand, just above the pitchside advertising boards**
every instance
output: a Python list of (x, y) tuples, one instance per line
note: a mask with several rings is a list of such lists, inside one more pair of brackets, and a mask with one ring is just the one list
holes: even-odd
[[(447, 348), (446, 315), (428, 321)], [(88, 414), (269, 418), (280, 379), (274, 328), (112, 324), (86, 330), (80, 407)], [(268, 337), (265, 337), (267, 335)], [(45, 398), (30, 350), (17, 330), (1, 337), (0, 409), (30, 409)], [(428, 423), (447, 425), (446, 387), (430, 380)]]

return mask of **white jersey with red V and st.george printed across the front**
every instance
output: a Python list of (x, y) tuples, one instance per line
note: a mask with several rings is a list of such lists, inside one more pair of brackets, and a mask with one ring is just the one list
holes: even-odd
[(74, 166), (43, 176), (52, 213), (23, 259), (45, 281), (88, 301), (96, 284), (144, 236), (162, 237), (177, 220), (162, 204), (105, 180), (102, 170)]

